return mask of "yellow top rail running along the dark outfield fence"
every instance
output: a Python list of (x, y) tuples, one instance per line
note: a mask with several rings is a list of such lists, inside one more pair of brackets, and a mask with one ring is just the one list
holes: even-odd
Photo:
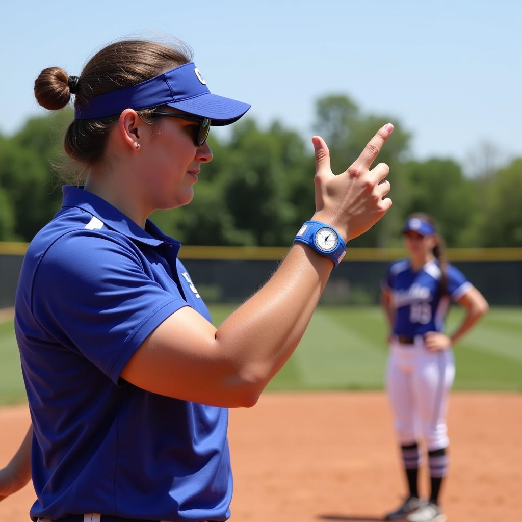
[[(29, 243), (0, 242), (0, 255), (26, 253)], [(189, 246), (183, 245), (181, 259), (235, 259), (279, 261), (288, 248), (279, 246)], [(404, 248), (350, 248), (344, 261), (393, 261), (406, 257)], [(522, 248), (448, 248), (450, 261), (522, 261)]]

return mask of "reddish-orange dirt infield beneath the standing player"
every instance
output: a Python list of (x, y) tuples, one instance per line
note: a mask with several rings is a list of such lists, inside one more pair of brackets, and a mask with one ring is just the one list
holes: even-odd
[[(28, 426), (0, 410), (0, 466)], [(232, 410), (232, 522), (369, 522), (404, 491), (392, 421), (380, 393), (266, 394)], [(449, 522), (522, 520), (522, 395), (454, 393)], [(423, 483), (425, 483), (423, 478)], [(32, 485), (0, 503), (0, 522), (29, 520)]]

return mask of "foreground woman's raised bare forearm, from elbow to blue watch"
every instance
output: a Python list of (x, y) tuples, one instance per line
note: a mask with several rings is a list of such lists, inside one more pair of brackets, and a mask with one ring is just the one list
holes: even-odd
[(301, 340), (333, 263), (294, 245), (278, 270), (217, 330), (216, 341), (239, 362), (242, 378), (264, 387)]

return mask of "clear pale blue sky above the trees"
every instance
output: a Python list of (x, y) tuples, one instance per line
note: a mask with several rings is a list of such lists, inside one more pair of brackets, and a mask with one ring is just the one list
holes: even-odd
[[(44, 67), (79, 75), (108, 42), (175, 36), (194, 50), (212, 92), (252, 103), (312, 136), (314, 101), (346, 93), (412, 133), (411, 153), (466, 162), (484, 141), (522, 156), (522, 2), (16, 2), (2, 10), (3, 118), (11, 134), (41, 110)], [(219, 131), (218, 131), (219, 132)]]

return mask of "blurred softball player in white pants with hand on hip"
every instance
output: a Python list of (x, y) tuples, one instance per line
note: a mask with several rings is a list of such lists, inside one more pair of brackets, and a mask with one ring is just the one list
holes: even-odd
[[(455, 376), (452, 346), (488, 311), (482, 294), (454, 266), (446, 263), (444, 244), (433, 220), (410, 216), (403, 230), (408, 259), (392, 263), (382, 286), (389, 323), (387, 391), (395, 417), (409, 495), (386, 520), (443, 522), (439, 494), (448, 465), (447, 398)], [(451, 336), (444, 334), (450, 302), (466, 309)], [(419, 437), (428, 450), (431, 491), (419, 497)]]

